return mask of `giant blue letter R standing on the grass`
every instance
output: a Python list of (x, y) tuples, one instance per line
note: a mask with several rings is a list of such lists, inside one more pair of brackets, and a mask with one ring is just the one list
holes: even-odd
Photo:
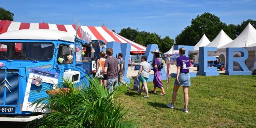
[[(241, 57), (233, 57), (234, 52), (240, 52)], [(245, 61), (248, 58), (248, 51), (245, 48), (226, 48), (227, 65), (225, 74), (228, 75), (251, 75), (252, 72), (247, 68)], [(241, 71), (234, 71), (233, 62), (237, 62)]]

